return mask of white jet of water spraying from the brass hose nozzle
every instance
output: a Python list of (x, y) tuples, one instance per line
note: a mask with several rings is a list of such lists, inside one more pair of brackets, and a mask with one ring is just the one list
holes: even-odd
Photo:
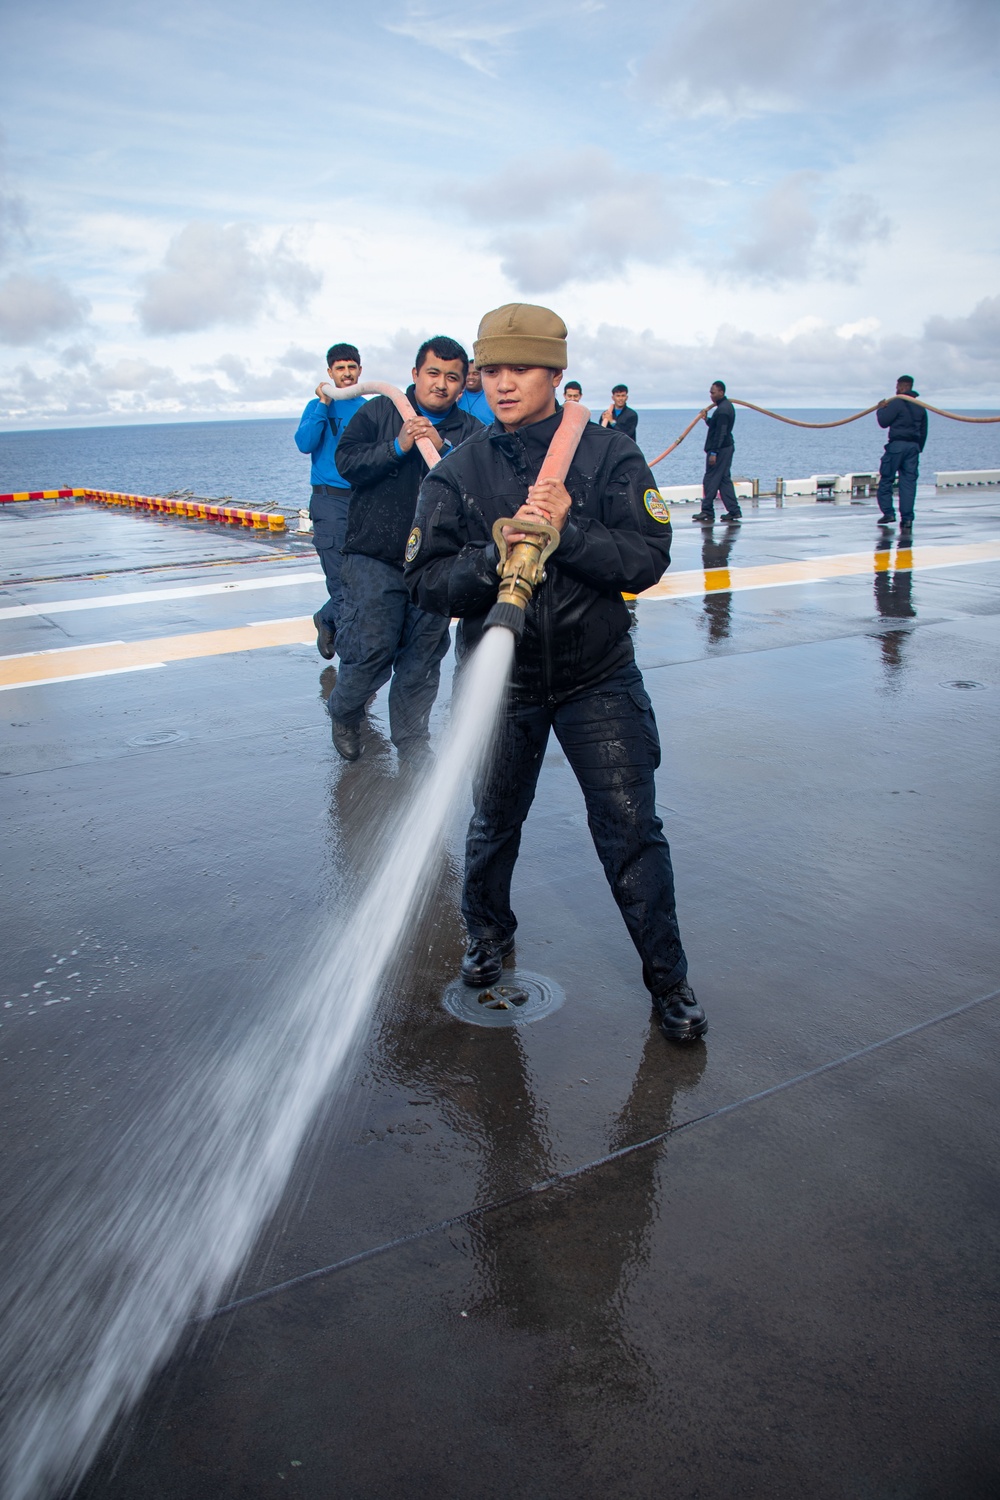
[(450, 814), (493, 741), (513, 652), (508, 630), (486, 632), (441, 754), (351, 918), (319, 934), (234, 1054), (132, 1124), (94, 1186), (67, 1178), (30, 1252), (6, 1268), (4, 1500), (76, 1485), (184, 1326), (217, 1305), (243, 1266), (364, 1041)]

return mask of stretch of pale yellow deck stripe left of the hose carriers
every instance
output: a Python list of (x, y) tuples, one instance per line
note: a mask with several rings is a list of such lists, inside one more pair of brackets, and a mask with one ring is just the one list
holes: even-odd
[(262, 646), (312, 645), (316, 627), (304, 615), (301, 620), (271, 620), (259, 626), (238, 626), (232, 630), (199, 630), (187, 636), (159, 636), (154, 640), (108, 642), (100, 646), (69, 646), (63, 651), (39, 651), (33, 656), (0, 657), (0, 688), (30, 687), (37, 682), (70, 681), (100, 672), (129, 672), (135, 668), (160, 666), (165, 662), (190, 662), (202, 656), (226, 656), (231, 651), (259, 651)]

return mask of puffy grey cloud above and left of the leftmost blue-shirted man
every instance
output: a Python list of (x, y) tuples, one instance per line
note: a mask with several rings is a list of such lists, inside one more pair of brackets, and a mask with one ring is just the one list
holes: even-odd
[(286, 236), (267, 248), (244, 224), (189, 224), (144, 285), (136, 310), (147, 333), (193, 333), (252, 322), (274, 294), (303, 306), (321, 278)]

